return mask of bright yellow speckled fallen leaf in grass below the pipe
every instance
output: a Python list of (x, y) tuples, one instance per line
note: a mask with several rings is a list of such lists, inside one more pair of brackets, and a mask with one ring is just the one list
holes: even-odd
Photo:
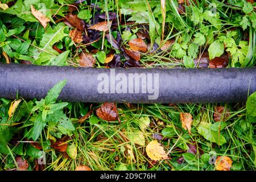
[(148, 143), (148, 145), (146, 146), (146, 152), (148, 158), (150, 158), (151, 160), (168, 159), (164, 148), (161, 146), (160, 143), (158, 143), (158, 140), (152, 140), (150, 143)]

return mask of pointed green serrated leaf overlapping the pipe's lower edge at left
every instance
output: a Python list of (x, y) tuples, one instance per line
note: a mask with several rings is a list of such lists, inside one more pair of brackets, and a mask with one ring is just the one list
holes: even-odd
[(66, 85), (66, 83), (67, 83), (67, 80), (62, 80), (60, 82), (57, 82), (57, 84), (54, 85), (53, 88), (51, 88), (49, 90), (49, 92), (47, 93), (47, 96), (45, 98), (46, 105), (52, 104), (53, 102), (55, 102), (57, 100), (61, 90)]

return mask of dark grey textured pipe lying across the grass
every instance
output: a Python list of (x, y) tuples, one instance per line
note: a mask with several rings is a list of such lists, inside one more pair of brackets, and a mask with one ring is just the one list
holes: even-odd
[(71, 102), (243, 102), (256, 91), (256, 68), (96, 69), (0, 64), (0, 98), (44, 98), (67, 80), (59, 99)]

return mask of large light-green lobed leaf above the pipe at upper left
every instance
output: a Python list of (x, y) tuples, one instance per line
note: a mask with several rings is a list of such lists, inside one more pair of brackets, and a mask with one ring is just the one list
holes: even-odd
[[(53, 44), (63, 39), (65, 36), (68, 36), (68, 34), (65, 34), (64, 32), (64, 29), (66, 27), (67, 26), (65, 26), (64, 23), (59, 23), (54, 28), (49, 27), (44, 33), (43, 38), (39, 44), (39, 47), (42, 49), (31, 46), (29, 55), (34, 57), (35, 64), (40, 65), (50, 60), (52, 57), (56, 57), (57, 55), (59, 55), (59, 52), (55, 51), (52, 46)], [(32, 44), (36, 43), (33, 42)]]

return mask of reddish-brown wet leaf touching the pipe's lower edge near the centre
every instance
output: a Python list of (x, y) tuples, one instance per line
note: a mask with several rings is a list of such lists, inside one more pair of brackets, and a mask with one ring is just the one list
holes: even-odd
[(117, 106), (114, 103), (105, 102), (96, 110), (96, 114), (99, 118), (106, 121), (117, 121)]

